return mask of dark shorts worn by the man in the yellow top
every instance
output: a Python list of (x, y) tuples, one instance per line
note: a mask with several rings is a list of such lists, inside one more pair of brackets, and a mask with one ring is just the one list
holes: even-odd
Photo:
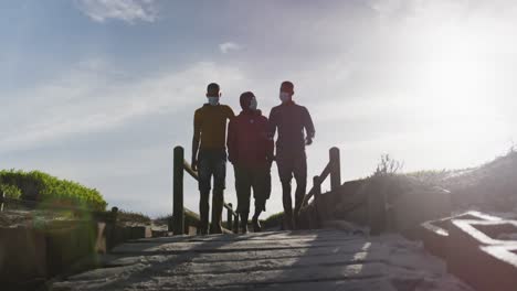
[(201, 150), (198, 160), (199, 190), (209, 192), (213, 176), (213, 190), (223, 191), (226, 186), (226, 151)]

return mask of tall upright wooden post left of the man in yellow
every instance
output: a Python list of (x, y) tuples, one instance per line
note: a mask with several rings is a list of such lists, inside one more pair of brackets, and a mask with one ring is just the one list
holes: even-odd
[(183, 162), (183, 148), (176, 147), (172, 181), (172, 234), (175, 236), (182, 235), (184, 230)]

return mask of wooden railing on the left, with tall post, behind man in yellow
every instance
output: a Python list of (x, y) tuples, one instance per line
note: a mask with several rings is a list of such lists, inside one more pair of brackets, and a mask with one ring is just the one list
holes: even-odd
[[(187, 172), (196, 181), (199, 180), (198, 172), (184, 160), (182, 147), (175, 148), (173, 177), (172, 177), (172, 234), (182, 235), (184, 229), (184, 205), (183, 205), (183, 173)], [(231, 203), (224, 203), (228, 211), (226, 227), (233, 233), (239, 231), (239, 215), (233, 211)]]

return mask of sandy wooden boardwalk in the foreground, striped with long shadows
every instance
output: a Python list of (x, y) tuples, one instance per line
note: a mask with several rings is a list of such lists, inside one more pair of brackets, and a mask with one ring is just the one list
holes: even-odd
[(340, 230), (141, 239), (103, 260), (53, 290), (471, 290), (419, 244)]

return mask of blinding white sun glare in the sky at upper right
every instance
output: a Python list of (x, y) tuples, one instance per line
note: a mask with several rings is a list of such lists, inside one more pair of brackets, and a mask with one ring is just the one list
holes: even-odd
[[(493, 66), (475, 32), (443, 28), (420, 35), (422, 67), (414, 76), (418, 107), (444, 140), (464, 147), (497, 130)], [(462, 134), (458, 134), (462, 133)]]

